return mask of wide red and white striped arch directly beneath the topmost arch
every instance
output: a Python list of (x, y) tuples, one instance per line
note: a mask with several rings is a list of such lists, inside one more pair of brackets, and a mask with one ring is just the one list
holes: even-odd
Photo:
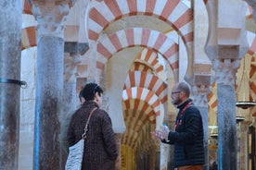
[(151, 48), (160, 53), (173, 69), (174, 78), (177, 78), (178, 44), (157, 30), (143, 28), (119, 30), (97, 44), (96, 68), (99, 75), (103, 73), (105, 65), (113, 54), (133, 46)]

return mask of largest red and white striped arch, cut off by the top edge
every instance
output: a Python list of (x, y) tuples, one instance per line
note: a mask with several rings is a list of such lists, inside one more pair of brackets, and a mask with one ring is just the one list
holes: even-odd
[(180, 34), (185, 44), (193, 42), (193, 10), (183, 1), (176, 0), (105, 0), (92, 3), (88, 18), (89, 39), (96, 42), (99, 34), (111, 22), (134, 15), (159, 18), (169, 23)]

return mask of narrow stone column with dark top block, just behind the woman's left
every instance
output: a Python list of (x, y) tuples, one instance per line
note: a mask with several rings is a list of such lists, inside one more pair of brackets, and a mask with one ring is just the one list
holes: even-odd
[(61, 168), (65, 168), (69, 145), (66, 139), (70, 117), (77, 109), (76, 73), (77, 66), (81, 63), (81, 55), (88, 49), (87, 43), (65, 42), (64, 45), (64, 84), (62, 114), (59, 115), (60, 124), (60, 155)]

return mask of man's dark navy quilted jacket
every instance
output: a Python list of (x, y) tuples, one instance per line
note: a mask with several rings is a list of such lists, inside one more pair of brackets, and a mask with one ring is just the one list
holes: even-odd
[(178, 126), (175, 131), (169, 132), (169, 141), (162, 140), (164, 143), (174, 144), (173, 164), (175, 167), (204, 164), (203, 125), (200, 112), (192, 103), (181, 115), (183, 108), (191, 101), (188, 99), (178, 106)]

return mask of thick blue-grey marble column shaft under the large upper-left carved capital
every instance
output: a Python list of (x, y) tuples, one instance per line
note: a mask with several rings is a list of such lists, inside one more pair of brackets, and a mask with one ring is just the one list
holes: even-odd
[(60, 169), (64, 40), (42, 37), (37, 50), (33, 169)]

